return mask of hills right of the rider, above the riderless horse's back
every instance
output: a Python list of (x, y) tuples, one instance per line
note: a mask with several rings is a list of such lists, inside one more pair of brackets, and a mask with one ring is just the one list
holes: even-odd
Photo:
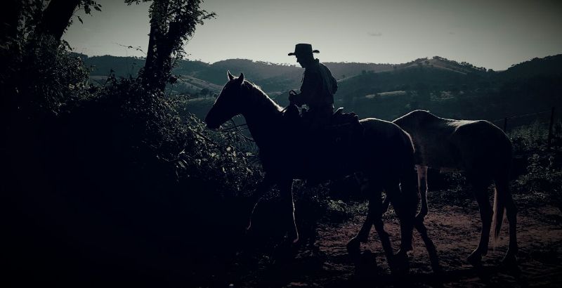
[(422, 58), (393, 71), (340, 82), (336, 105), (362, 117), (396, 119), (426, 109), (457, 119), (499, 119), (562, 105), (562, 55), (494, 72), (445, 58)]

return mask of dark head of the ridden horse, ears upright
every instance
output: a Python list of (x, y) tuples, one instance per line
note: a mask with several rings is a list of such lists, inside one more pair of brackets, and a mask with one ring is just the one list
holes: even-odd
[(244, 74), (240, 73), (240, 77), (234, 77), (230, 71), (227, 74), (228, 82), (205, 117), (205, 123), (211, 129), (217, 129), (224, 122), (242, 113), (240, 95), (242, 94), (242, 84), (244, 84)]

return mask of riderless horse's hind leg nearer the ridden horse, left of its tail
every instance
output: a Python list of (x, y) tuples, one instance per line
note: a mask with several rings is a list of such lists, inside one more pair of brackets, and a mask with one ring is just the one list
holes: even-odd
[(478, 202), (480, 210), (480, 218), (482, 221), (482, 231), (478, 247), (469, 255), (467, 260), (473, 266), (481, 264), (482, 256), (488, 254), (488, 243), (490, 242), (490, 228), (492, 227), (493, 209), (488, 199), (488, 181), (482, 181), (481, 178), (473, 178), (473, 192)]

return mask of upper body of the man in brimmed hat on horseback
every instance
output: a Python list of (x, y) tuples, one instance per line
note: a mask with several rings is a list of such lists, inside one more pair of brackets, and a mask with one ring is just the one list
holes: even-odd
[(289, 91), (289, 102), (299, 107), (306, 104), (308, 111), (304, 118), (311, 130), (317, 130), (329, 124), (334, 114), (334, 93), (338, 84), (328, 67), (315, 59), (313, 53), (320, 51), (312, 50), (311, 44), (296, 44), (294, 52), (288, 54), (295, 55), (296, 62), (305, 69), (301, 92)]

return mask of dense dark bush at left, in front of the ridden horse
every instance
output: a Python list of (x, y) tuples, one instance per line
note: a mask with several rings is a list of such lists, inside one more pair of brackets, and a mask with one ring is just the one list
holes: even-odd
[(182, 121), (174, 99), (138, 79), (91, 86), (87, 72), (64, 46), (38, 45), (2, 74), (13, 277), (185, 283), (220, 273), (213, 259), (231, 256), (250, 208), (244, 193), (261, 178), (255, 151), (240, 133)]

